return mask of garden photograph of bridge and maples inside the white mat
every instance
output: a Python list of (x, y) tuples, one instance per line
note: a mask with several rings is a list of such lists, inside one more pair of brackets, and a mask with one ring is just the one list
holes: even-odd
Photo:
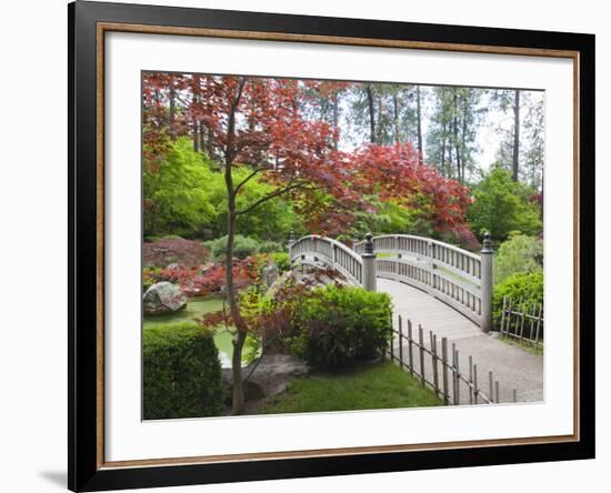
[(142, 420), (544, 400), (545, 93), (144, 71)]

